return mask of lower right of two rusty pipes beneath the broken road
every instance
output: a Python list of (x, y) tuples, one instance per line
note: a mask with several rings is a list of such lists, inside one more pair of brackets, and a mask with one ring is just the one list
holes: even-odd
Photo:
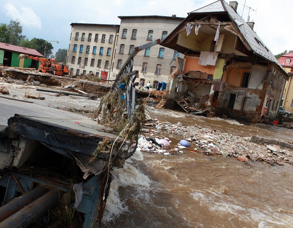
[(42, 195), (28, 206), (0, 222), (0, 227), (28, 227), (30, 224), (33, 224), (33, 222), (44, 215), (48, 210), (55, 207), (62, 194), (62, 192), (58, 192), (57, 190), (51, 190), (47, 192), (45, 195)]

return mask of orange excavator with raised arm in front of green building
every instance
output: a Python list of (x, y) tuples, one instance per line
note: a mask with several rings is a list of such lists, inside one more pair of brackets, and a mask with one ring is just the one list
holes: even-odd
[(25, 55), (25, 54), (20, 54), (18, 56), (18, 59), (32, 59), (32, 60), (37, 60), (40, 62), (40, 66), (38, 71), (42, 73), (49, 73), (50, 72), (50, 67), (54, 70), (55, 67), (55, 75), (59, 76), (65, 76), (69, 74), (69, 66), (64, 65), (63, 63), (55, 63), (54, 58), (40, 58), (40, 57), (33, 57), (30, 55)]

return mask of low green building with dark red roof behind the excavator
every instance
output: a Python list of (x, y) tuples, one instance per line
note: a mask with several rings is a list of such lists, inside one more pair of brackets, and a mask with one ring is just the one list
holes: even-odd
[(39, 67), (37, 60), (18, 59), (19, 54), (30, 55), (34, 57), (44, 57), (37, 50), (31, 48), (23, 48), (16, 45), (0, 42), (0, 66), (7, 67), (24, 67), (36, 68)]

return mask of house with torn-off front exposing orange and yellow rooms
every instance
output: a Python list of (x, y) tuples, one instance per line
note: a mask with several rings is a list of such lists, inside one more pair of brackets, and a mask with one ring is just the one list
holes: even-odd
[(169, 76), (166, 99), (191, 113), (275, 118), (288, 74), (237, 5), (219, 0), (192, 11), (161, 43), (185, 54)]

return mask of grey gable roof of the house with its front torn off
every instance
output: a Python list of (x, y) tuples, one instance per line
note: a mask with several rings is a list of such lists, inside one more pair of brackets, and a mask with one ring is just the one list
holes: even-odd
[[(195, 11), (190, 12), (189, 14), (193, 13), (211, 13), (211, 12), (226, 12), (228, 16), (230, 17), (231, 21), (234, 21), (236, 26), (239, 28), (239, 31), (241, 33), (241, 36), (246, 40), (249, 47), (251, 48), (251, 51), (256, 53), (257, 55), (260, 55), (261, 57), (276, 63), (283, 69), (282, 65), (278, 62), (278, 60), (275, 58), (273, 53), (265, 46), (263, 41), (259, 38), (259, 36), (251, 29), (251, 27), (242, 19), (242, 17), (234, 11), (234, 9), (226, 3), (224, 0), (218, 0), (215, 1), (207, 6), (204, 6), (200, 9), (197, 9)], [(287, 72), (286, 72), (287, 73)]]

